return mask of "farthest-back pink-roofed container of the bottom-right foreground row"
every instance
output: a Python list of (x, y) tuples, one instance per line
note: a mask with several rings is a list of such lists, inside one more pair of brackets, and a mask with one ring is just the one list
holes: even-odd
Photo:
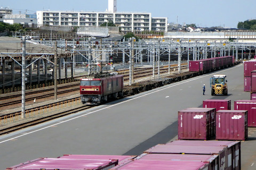
[(241, 169), (241, 142), (240, 141), (202, 141), (202, 140), (175, 140), (166, 145), (189, 145), (189, 146), (227, 146), (228, 147), (228, 170)]

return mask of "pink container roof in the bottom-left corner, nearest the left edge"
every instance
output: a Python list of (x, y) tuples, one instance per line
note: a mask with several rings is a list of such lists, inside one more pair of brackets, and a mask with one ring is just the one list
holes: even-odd
[(118, 165), (118, 160), (38, 158), (7, 169), (33, 170), (107, 170)]

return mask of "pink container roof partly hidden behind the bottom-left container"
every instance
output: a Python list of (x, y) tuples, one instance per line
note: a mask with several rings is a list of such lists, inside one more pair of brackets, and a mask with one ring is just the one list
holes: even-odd
[(121, 155), (63, 155), (60, 159), (118, 160), (118, 164), (130, 162), (136, 156)]

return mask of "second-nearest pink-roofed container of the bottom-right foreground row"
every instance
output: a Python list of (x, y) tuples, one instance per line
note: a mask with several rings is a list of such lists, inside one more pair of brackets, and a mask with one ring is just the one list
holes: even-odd
[(193, 155), (193, 154), (141, 154), (135, 159), (139, 160), (168, 160), (168, 161), (193, 161), (209, 163), (210, 169), (220, 169), (218, 155)]

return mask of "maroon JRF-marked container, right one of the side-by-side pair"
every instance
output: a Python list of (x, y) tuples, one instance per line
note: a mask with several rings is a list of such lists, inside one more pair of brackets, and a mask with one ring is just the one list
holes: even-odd
[(248, 137), (247, 111), (220, 110), (216, 120), (217, 140), (245, 140)]

